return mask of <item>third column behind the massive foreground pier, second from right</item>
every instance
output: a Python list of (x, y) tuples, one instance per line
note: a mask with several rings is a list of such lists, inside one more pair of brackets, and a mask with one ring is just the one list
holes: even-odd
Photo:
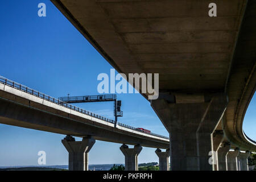
[(228, 171), (238, 171), (238, 162), (237, 156), (240, 154), (239, 148), (236, 148), (234, 151), (229, 151), (226, 155), (226, 163)]

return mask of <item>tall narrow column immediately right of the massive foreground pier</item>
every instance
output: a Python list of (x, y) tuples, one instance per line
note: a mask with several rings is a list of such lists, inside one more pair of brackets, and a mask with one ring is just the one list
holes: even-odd
[(217, 151), (221, 146), (221, 143), (224, 140), (224, 134), (223, 131), (215, 131), (213, 133), (213, 151), (214, 151), (214, 155), (213, 155), (213, 170), (214, 171), (218, 171), (218, 154)]

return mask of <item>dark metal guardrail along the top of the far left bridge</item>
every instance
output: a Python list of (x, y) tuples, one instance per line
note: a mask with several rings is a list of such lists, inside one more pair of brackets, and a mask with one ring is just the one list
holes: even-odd
[[(27, 86), (24, 86), (22, 84), (18, 84), (17, 82), (11, 81), (11, 80), (9, 80), (9, 79), (7, 79), (5, 77), (0, 76), (0, 83), (2, 83), (4, 85), (11, 86), (11, 87), (13, 87), (15, 89), (18, 89), (20, 91), (26, 92), (26, 93), (31, 94), (33, 96), (36, 96), (36, 97), (39, 97), (39, 98), (43, 98), (43, 100), (47, 100), (47, 101), (52, 102), (54, 104), (57, 104), (57, 105), (60, 105), (60, 106), (63, 106), (63, 107), (67, 107), (68, 109), (72, 109), (72, 110), (78, 111), (79, 113), (86, 114), (86, 115), (89, 115), (91, 117), (94, 117), (94, 118), (97, 118), (97, 119), (101, 119), (101, 120), (109, 122), (109, 123), (113, 123), (113, 124), (115, 123), (115, 121), (113, 119), (105, 118), (105, 117), (102, 117), (101, 115), (91, 113), (91, 112), (86, 111), (84, 109), (80, 109), (79, 107), (76, 107), (76, 106), (73, 106), (71, 104), (68, 104), (68, 103), (66, 103), (64, 101), (61, 101), (61, 100), (57, 99), (57, 98), (48, 96), (47, 94), (44, 94), (44, 93), (41, 93), (41, 92), (36, 91), (34, 89), (31, 89), (31, 88), (29, 88)], [(119, 126), (126, 127), (128, 129), (144, 133), (143, 131), (140, 131), (140, 130), (138, 130), (135, 127), (124, 125), (122, 123), (117, 123), (117, 124)], [(156, 137), (169, 139), (168, 137), (164, 137), (162, 135), (158, 135), (158, 134), (154, 134), (154, 133), (150, 133), (149, 135), (153, 135), (153, 136), (156, 136)]]

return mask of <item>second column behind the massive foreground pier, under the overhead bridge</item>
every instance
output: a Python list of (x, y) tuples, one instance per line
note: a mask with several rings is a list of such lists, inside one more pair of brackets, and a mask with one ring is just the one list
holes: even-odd
[(227, 171), (226, 168), (226, 155), (230, 150), (230, 143), (222, 143), (222, 147), (217, 150), (217, 171)]

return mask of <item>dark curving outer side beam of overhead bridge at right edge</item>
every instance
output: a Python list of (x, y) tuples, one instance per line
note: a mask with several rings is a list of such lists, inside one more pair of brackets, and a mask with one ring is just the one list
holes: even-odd
[(225, 85), (230, 102), (223, 122), (226, 138), (235, 146), (249, 151), (256, 150), (256, 143), (245, 137), (242, 125), (246, 110), (255, 95), (256, 54), (252, 53), (255, 52), (256, 42), (255, 7), (256, 1), (246, 1), (240, 35), (232, 58), (232, 69)]

